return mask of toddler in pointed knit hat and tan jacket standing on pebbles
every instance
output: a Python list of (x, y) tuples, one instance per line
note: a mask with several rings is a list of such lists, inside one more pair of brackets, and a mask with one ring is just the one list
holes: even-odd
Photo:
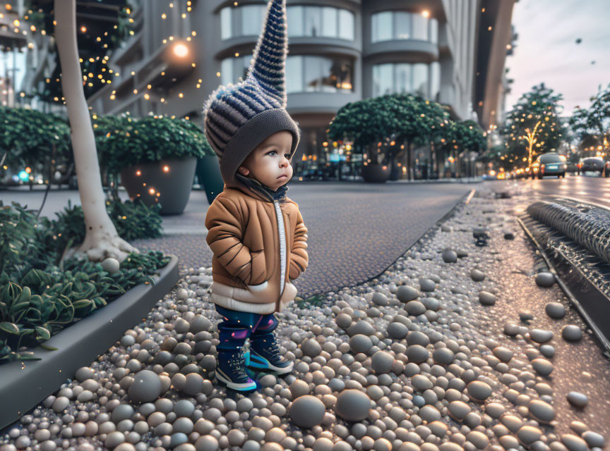
[[(205, 136), (220, 159), (225, 189), (205, 216), (218, 324), (218, 381), (256, 389), (247, 367), (292, 371), (273, 331), (294, 299), (292, 280), (308, 264), (307, 229), (286, 197), (299, 129), (287, 113), (285, 0), (270, 0), (246, 80), (219, 87), (205, 108)], [(243, 346), (250, 340), (250, 351)]]

